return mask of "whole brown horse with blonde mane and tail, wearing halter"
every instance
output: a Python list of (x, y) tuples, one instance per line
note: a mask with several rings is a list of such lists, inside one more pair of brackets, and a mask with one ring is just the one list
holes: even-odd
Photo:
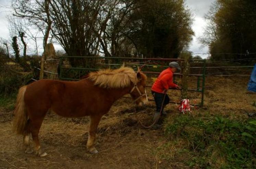
[(30, 147), (31, 133), (35, 153), (47, 155), (40, 148), (38, 133), (48, 111), (63, 117), (90, 116), (86, 147), (89, 152), (97, 153), (94, 141), (101, 117), (117, 99), (128, 93), (137, 106), (143, 106), (147, 102), (146, 80), (145, 74), (136, 73), (130, 67), (121, 67), (92, 72), (80, 81), (42, 79), (21, 87), (13, 127), (17, 134), (24, 136), (25, 153), (33, 152)]

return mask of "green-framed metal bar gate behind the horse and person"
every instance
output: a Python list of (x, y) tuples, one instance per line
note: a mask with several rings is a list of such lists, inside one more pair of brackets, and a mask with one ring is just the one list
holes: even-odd
[[(65, 66), (63, 63), (64, 60), (67, 60), (69, 58), (83, 58), (83, 59), (94, 59), (95, 66), (86, 68), (86, 67), (70, 67)], [(122, 58), (122, 57), (80, 57), (80, 56), (63, 56), (60, 57), (60, 73), (59, 73), (59, 79), (60, 80), (80, 80), (81, 76), (92, 72), (92, 71), (98, 71), (101, 68), (117, 68), (120, 67), (123, 63), (126, 66), (133, 67), (135, 71), (137, 71), (137, 66), (144, 66), (142, 69), (142, 72), (147, 75), (157, 75), (160, 74), (160, 72), (168, 67), (167, 63), (170, 61), (177, 61), (177, 62), (184, 62), (184, 59), (167, 59), (167, 58)], [(159, 62), (164, 62), (162, 64), (159, 64)], [(151, 63), (151, 64), (150, 64)], [(200, 68), (200, 73), (198, 74), (189, 74), (188, 76), (193, 76), (197, 78), (197, 86), (196, 89), (188, 89), (187, 91), (191, 92), (200, 92), (201, 93), (201, 102), (197, 106), (203, 106), (204, 105), (204, 91), (205, 91), (205, 69), (206, 69), (206, 60), (191, 60), (190, 65), (193, 65), (193, 63), (199, 63), (200, 66), (196, 68)], [(147, 68), (145, 68), (145, 66)], [(97, 68), (96, 68), (97, 67)], [(154, 70), (148, 68), (153, 67)], [(193, 67), (191, 67), (193, 68)], [(194, 67), (195, 68), (195, 67)], [(76, 76), (67, 77), (66, 72), (80, 72)], [(174, 75), (182, 76), (181, 73), (174, 73)], [(175, 76), (173, 78), (175, 80)], [(148, 88), (151, 86), (147, 86)], [(179, 89), (174, 89), (179, 90)], [(174, 103), (174, 102), (172, 102)]]

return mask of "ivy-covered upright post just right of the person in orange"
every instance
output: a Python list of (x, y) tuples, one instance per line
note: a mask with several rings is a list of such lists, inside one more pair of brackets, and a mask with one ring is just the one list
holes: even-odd
[(187, 89), (188, 89), (188, 74), (190, 70), (189, 65), (189, 55), (186, 55), (183, 63), (183, 76), (182, 76), (182, 90), (181, 90), (181, 99), (187, 99)]

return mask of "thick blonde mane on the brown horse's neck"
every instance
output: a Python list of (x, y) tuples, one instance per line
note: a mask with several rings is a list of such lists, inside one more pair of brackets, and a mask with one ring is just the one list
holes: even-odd
[(124, 88), (130, 86), (131, 83), (136, 84), (138, 79), (136, 73), (130, 67), (120, 67), (119, 69), (99, 70), (89, 73), (89, 77), (95, 85), (102, 88)]

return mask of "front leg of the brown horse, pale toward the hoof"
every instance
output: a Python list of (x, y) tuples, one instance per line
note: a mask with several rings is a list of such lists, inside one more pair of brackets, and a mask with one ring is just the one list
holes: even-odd
[(87, 150), (90, 153), (98, 153), (98, 151), (94, 147), (94, 141), (95, 141), (96, 130), (101, 117), (102, 115), (90, 116), (89, 137), (86, 144)]

